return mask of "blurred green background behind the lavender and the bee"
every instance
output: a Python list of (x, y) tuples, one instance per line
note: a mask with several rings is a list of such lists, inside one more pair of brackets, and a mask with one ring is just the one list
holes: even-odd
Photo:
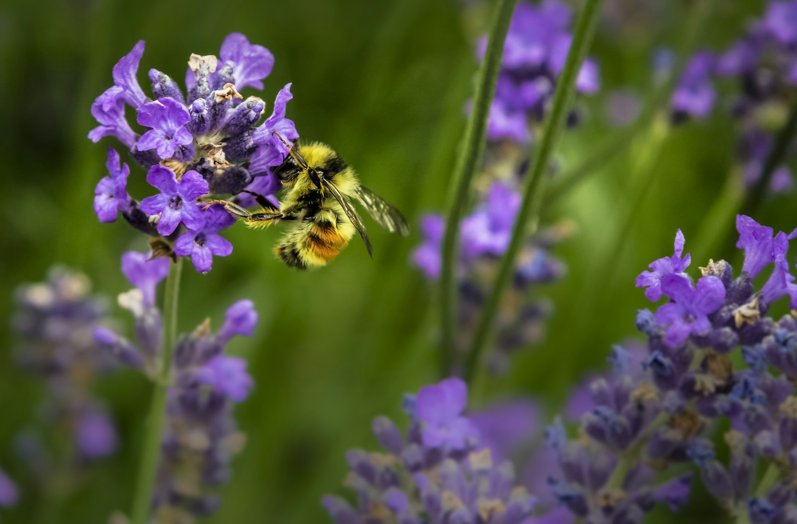
[[(639, 3), (607, 0), (607, 10), (627, 18), (618, 26), (606, 17), (599, 29), (591, 55), (603, 87), (579, 98), (583, 124), (567, 131), (557, 154), (564, 170), (617, 132), (608, 123), (607, 94), (630, 88), (644, 98), (652, 50), (677, 41), (686, 16), (681, 2), (663, 2), (654, 16)], [(720, 2), (701, 45), (725, 49), (762, 4)], [(112, 66), (135, 41), (147, 42), (139, 68), (145, 91), (149, 68), (182, 79), (189, 54), (218, 53), (228, 33), (265, 45), (276, 64), (264, 100), (293, 82), (288, 116), (300, 135), (330, 143), (417, 225), (421, 213), (446, 203), (476, 68), (473, 37), (485, 24), (479, 10), (467, 12), (454, 0), (7, 2), (0, 7), (6, 151), (0, 315), (10, 319), (14, 286), (42, 280), (56, 262), (88, 273), (98, 292), (128, 289), (121, 253), (145, 250), (146, 239), (123, 221), (96, 220), (92, 190), (104, 176), (104, 146), (116, 143), (92, 144), (86, 135), (96, 125), (92, 100), (111, 85)], [(635, 335), (634, 311), (648, 304), (634, 277), (671, 253), (677, 228), (687, 251), (696, 252), (690, 240), (724, 186), (735, 140), (720, 105), (711, 119), (673, 131), (641, 200), (632, 166), (646, 143), (636, 140), (544, 209), (546, 223), (575, 224), (575, 234), (554, 250), (567, 276), (536, 291), (555, 305), (548, 335), (516, 355), (508, 377), (490, 381), (488, 398), (534, 395), (553, 413), (575, 381), (603, 366), (612, 343)], [(138, 166), (132, 165), (131, 181), (135, 197), (150, 194)], [(795, 203), (794, 196), (779, 197), (756, 218), (791, 230), (797, 220), (784, 210)], [(438, 379), (437, 290), (408, 264), (418, 234), (402, 239), (367, 225), (374, 260), (353, 242), (328, 268), (293, 272), (271, 253), (279, 231), (234, 227), (226, 232), (232, 256), (215, 260), (208, 275), (184, 272), (181, 331), (209, 315), (218, 327), (226, 307), (241, 298), (253, 299), (261, 318), (253, 339), (231, 344), (249, 359), (257, 388), (238, 407), (248, 443), (223, 488), (222, 508), (207, 522), (328, 522), (320, 496), (344, 492), (344, 451), (373, 448), (371, 419), (401, 420), (402, 393)], [(733, 228), (732, 213), (721, 227)], [(723, 249), (710, 255), (733, 255)], [(116, 313), (127, 317), (118, 307)], [(21, 484), (22, 501), (0, 518), (37, 522), (43, 495), (26, 481), (25, 464), (11, 449), (18, 428), (33, 418), (41, 384), (14, 367), (9, 324), (0, 323), (0, 465)], [(123, 372), (97, 389), (120, 427), (120, 451), (88, 470), (58, 522), (106, 522), (113, 510), (129, 506), (148, 385)], [(720, 514), (713, 505), (687, 512), (694, 522)]]

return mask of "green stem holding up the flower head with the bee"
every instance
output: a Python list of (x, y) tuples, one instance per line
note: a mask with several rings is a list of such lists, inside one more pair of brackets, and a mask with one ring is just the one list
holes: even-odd
[(135, 483), (131, 524), (145, 524), (149, 516), (152, 491), (158, 474), (163, 420), (166, 416), (167, 389), (171, 370), (172, 353), (177, 339), (177, 303), (180, 291), (182, 258), (169, 265), (166, 291), (163, 295), (163, 346), (159, 369), (155, 371), (150, 413), (144, 434), (144, 448)]

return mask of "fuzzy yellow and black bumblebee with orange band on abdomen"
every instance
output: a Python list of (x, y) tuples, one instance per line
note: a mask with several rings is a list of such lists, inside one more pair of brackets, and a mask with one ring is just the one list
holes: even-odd
[(250, 228), (263, 228), (279, 221), (289, 221), (290, 229), (274, 248), (274, 253), (291, 268), (324, 266), (346, 247), (355, 231), (363, 239), (368, 255), (373, 248), (363, 221), (349, 199), (359, 201), (368, 214), (383, 228), (406, 236), (406, 219), (367, 187), (335, 151), (323, 143), (290, 146), (276, 131), (274, 134), (289, 148), (285, 162), (273, 170), (288, 193), (275, 209), (259, 194), (253, 194), (261, 209), (249, 212), (234, 202), (216, 200), (234, 217)]

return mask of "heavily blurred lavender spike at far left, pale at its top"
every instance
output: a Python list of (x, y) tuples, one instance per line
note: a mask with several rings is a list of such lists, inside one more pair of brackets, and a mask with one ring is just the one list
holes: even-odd
[(72, 436), (83, 459), (110, 455), (116, 450), (116, 428), (91, 393), (96, 378), (112, 366), (92, 338), (108, 313), (107, 300), (90, 295), (86, 276), (53, 268), (45, 282), (18, 287), (15, 303), (19, 362), (42, 377), (48, 389), (41, 424)]

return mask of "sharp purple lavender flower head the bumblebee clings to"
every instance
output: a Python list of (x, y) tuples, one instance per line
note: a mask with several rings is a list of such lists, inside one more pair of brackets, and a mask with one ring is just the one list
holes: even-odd
[[(243, 205), (253, 205), (244, 191), (269, 196), (281, 184), (271, 173), (288, 151), (272, 134), (296, 139), (296, 127), (285, 118), (291, 84), (277, 93), (272, 115), (260, 125), (265, 102), (245, 100), (238, 89), (263, 88), (274, 58), (268, 49), (250, 44), (240, 33), (222, 43), (218, 58), (192, 54), (186, 72), (186, 92), (167, 74), (150, 69), (153, 97), (139, 86), (136, 74), (143, 55), (139, 41), (113, 68), (114, 84), (92, 104), (100, 123), (88, 138), (97, 142), (113, 136), (148, 170), (147, 182), (159, 194), (136, 201), (127, 192), (130, 169), (108, 148), (108, 176), (97, 183), (94, 209), (102, 222), (116, 221), (118, 213), (136, 229), (164, 237), (177, 256), (190, 256), (198, 272), (210, 271), (213, 256), (227, 256), (233, 246), (218, 235), (234, 221), (218, 206), (205, 209), (200, 199), (213, 194), (241, 194)], [(135, 131), (125, 118), (125, 107), (135, 110)], [(145, 131), (146, 130), (146, 131)]]

